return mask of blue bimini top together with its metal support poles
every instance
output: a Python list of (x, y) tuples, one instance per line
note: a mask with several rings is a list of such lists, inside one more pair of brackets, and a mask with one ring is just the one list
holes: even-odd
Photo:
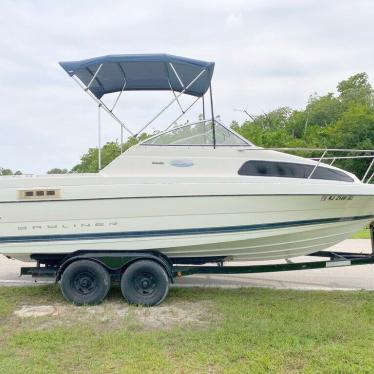
[[(99, 169), (101, 169), (101, 108), (121, 125), (122, 147), (123, 130), (131, 136), (138, 136), (174, 102), (178, 103), (182, 113), (171, 125), (175, 124), (200, 98), (205, 120), (204, 94), (209, 89), (215, 146), (215, 119), (211, 89), (214, 62), (167, 54), (140, 54), (109, 55), (82, 61), (65, 61), (60, 62), (60, 65), (98, 105)], [(137, 133), (134, 133), (113, 112), (125, 91), (171, 91), (173, 99)], [(103, 96), (109, 93), (118, 93), (111, 107), (102, 101)], [(196, 97), (186, 109), (182, 108), (179, 101), (182, 94)]]

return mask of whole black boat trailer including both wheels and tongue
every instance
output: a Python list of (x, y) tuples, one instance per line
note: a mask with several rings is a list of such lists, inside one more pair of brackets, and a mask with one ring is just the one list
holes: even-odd
[[(232, 266), (225, 265), (225, 261), (228, 260), (226, 257), (181, 260), (170, 259), (157, 251), (77, 251), (66, 256), (33, 255), (37, 266), (22, 267), (20, 276), (54, 278), (60, 283), (65, 298), (77, 305), (97, 304), (104, 299), (111, 285), (120, 284), (122, 293), (130, 303), (151, 306), (158, 305), (164, 300), (170, 282), (173, 283), (176, 277), (186, 275), (254, 274), (374, 264), (374, 222), (370, 224), (369, 230), (371, 253), (318, 251), (307, 255), (307, 257), (328, 258), (328, 260), (306, 262), (287, 260), (280, 264)], [(181, 265), (181, 262), (186, 265)], [(199, 265), (208, 262), (211, 265)], [(92, 264), (94, 269), (90, 268)], [(71, 271), (72, 268), (77, 269)], [(71, 274), (67, 275), (68, 273)], [(90, 298), (95, 283), (101, 283), (100, 277), (104, 277), (106, 286), (100, 297)], [(164, 285), (160, 292), (158, 292), (159, 284)], [(69, 288), (73, 288), (75, 295)]]

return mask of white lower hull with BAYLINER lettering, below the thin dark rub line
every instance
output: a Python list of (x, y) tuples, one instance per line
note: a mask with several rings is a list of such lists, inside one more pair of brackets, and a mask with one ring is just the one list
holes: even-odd
[(374, 196), (72, 199), (3, 203), (1, 209), (8, 222), (0, 221), (0, 253), (22, 260), (78, 250), (271, 260), (316, 252), (348, 238), (374, 220)]

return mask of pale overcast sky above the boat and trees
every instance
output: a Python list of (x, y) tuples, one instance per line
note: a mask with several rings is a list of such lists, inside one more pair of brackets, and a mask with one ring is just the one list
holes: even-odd
[[(97, 108), (59, 61), (127, 53), (214, 61), (215, 114), (229, 125), (246, 119), (235, 109), (301, 109), (359, 72), (373, 84), (373, 19), (372, 0), (1, 0), (0, 167), (70, 169), (97, 145)], [(126, 92), (118, 115), (139, 130), (171, 95)], [(178, 114), (175, 105), (150, 132)], [(103, 113), (102, 141), (119, 137)]]

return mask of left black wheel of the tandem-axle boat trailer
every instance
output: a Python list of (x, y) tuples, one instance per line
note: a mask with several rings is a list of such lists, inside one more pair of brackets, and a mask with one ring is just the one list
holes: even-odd
[(65, 299), (75, 305), (95, 305), (104, 300), (110, 283), (110, 275), (102, 265), (78, 260), (62, 273), (60, 288)]

